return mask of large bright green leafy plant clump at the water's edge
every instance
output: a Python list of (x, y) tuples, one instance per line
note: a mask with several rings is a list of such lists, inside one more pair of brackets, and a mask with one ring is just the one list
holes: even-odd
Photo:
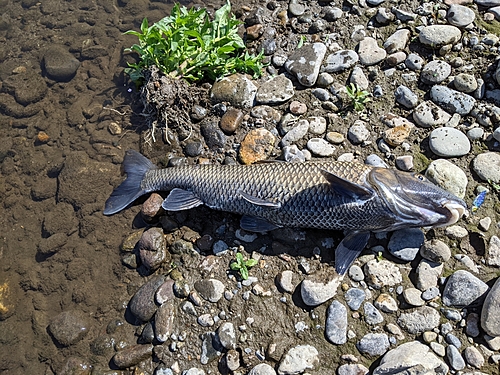
[(215, 12), (213, 21), (206, 9), (186, 9), (175, 4), (170, 16), (151, 26), (145, 18), (140, 32), (125, 32), (139, 39), (126, 51), (140, 56), (138, 63), (129, 64), (126, 73), (134, 81), (141, 80), (144, 71), (156, 65), (163, 73), (190, 82), (207, 77), (216, 80), (236, 72), (258, 77), (264, 66), (263, 55), (245, 51), (237, 32), (240, 23), (231, 16), (229, 0)]

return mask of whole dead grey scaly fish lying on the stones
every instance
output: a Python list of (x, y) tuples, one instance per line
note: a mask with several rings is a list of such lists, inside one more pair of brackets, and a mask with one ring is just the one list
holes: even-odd
[(123, 160), (126, 179), (103, 213), (113, 215), (140, 196), (169, 191), (166, 211), (205, 205), (241, 214), (250, 232), (281, 227), (343, 230), (335, 270), (345, 274), (371, 232), (436, 228), (456, 223), (465, 202), (419, 173), (355, 162), (265, 162), (252, 165), (188, 165), (159, 169), (137, 151)]

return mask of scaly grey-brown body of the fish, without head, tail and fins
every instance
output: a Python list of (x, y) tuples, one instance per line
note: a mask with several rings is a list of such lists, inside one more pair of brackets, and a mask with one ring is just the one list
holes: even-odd
[[(188, 190), (210, 208), (261, 217), (279, 226), (377, 230), (387, 226), (389, 212), (382, 200), (374, 197), (359, 204), (339, 196), (322, 172), (366, 185), (371, 170), (370, 166), (346, 162), (181, 166), (148, 171), (141, 187), (145, 191)], [(281, 207), (252, 204), (240, 191), (280, 202)], [(367, 210), (370, 215), (366, 215)]]

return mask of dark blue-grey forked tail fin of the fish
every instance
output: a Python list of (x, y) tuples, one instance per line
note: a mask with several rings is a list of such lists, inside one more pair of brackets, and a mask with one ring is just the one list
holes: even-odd
[(142, 190), (141, 182), (144, 175), (156, 166), (137, 151), (128, 150), (123, 159), (123, 170), (127, 174), (125, 181), (121, 183), (106, 201), (104, 215), (113, 215), (123, 210), (147, 191)]

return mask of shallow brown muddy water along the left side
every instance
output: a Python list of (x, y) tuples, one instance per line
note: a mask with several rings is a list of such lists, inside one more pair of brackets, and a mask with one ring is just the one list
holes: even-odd
[[(91, 350), (89, 343), (120, 325), (113, 322), (125, 319), (129, 289), (143, 282), (118, 250), (134, 210), (102, 215), (123, 153), (138, 148), (144, 126), (123, 74), (132, 61), (123, 50), (135, 38), (122, 33), (144, 17), (159, 20), (171, 6), (0, 0), (2, 374), (61, 373), (71, 357), (77, 367), (109, 370), (106, 344)], [(48, 74), (44, 56), (54, 46), (76, 58), (74, 76)], [(52, 338), (47, 327), (62, 311), (83, 313), (85, 340), (63, 347)]]

